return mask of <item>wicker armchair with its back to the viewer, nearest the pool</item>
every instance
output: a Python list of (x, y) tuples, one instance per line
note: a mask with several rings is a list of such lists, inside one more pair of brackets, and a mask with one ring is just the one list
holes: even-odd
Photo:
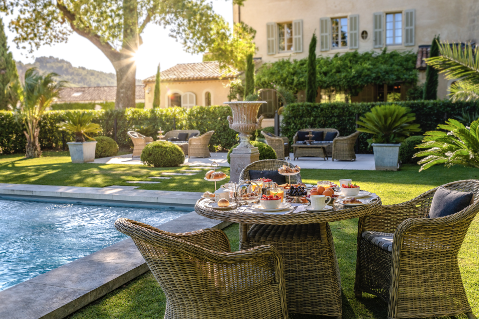
[(166, 295), (165, 319), (287, 319), (281, 257), (268, 245), (231, 252), (214, 228), (169, 233), (119, 218)]

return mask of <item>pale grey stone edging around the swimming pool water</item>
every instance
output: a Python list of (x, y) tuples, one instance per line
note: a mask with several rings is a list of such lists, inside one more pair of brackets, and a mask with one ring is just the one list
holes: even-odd
[[(54, 190), (49, 187), (61, 187), (60, 193), (64, 193), (69, 198), (87, 199), (91, 198), (77, 196), (80, 196), (80, 194), (88, 196), (95, 189), (103, 189), (95, 187), (68, 188), (66, 186), (0, 184), (0, 194), (28, 195), (25, 192), (31, 192), (29, 194), (31, 199), (34, 199), (34, 196), (65, 197), (58, 194), (55, 196)], [(88, 190), (81, 192), (78, 188), (88, 188)], [(91, 190), (92, 188), (93, 190)], [(49, 194), (46, 194), (47, 192)], [(178, 203), (176, 201), (178, 196), (183, 196), (183, 204), (189, 204), (191, 200), (196, 202), (196, 198), (185, 198), (194, 194), (191, 192), (165, 192), (172, 196), (170, 199), (174, 200), (174, 202), (169, 202), (168, 195), (165, 193), (158, 194), (158, 197), (156, 197), (157, 201), (155, 201), (153, 196), (151, 196), (152, 193), (145, 193), (145, 190), (128, 190), (127, 192), (130, 194), (120, 195), (117, 191), (114, 194), (99, 192), (99, 195), (121, 196), (122, 200), (130, 201), (132, 201), (132, 198), (129, 197), (139, 197), (143, 200), (136, 201), (150, 200), (153, 203), (169, 204)], [(140, 192), (142, 195), (135, 196), (132, 194), (135, 192)], [(129, 197), (125, 198), (125, 196)], [(204, 228), (223, 229), (230, 224), (231, 222), (213, 220), (191, 212), (168, 221), (158, 226), (158, 228), (180, 233)], [(0, 307), (0, 318), (61, 319), (148, 270), (148, 265), (140, 252), (131, 238), (128, 238), (1, 291), (0, 305), (2, 306)]]

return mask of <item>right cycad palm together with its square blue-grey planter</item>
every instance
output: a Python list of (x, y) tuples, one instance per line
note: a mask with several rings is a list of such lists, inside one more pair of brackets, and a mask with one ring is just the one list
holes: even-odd
[(399, 147), (412, 132), (419, 132), (414, 124), (416, 116), (410, 108), (395, 104), (375, 106), (357, 122), (359, 132), (370, 133), (376, 170), (398, 170)]

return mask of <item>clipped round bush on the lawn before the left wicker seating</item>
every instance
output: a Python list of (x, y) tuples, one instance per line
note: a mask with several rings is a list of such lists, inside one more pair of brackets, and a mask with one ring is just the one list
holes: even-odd
[(173, 167), (183, 164), (185, 153), (178, 145), (167, 141), (156, 141), (145, 146), (140, 159), (147, 166)]

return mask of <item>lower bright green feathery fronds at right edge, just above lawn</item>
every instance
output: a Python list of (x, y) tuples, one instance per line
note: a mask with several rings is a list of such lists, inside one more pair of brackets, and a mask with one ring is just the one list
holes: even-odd
[(426, 157), (418, 162), (422, 164), (419, 171), (436, 164), (461, 164), (479, 168), (479, 121), (474, 121), (471, 127), (467, 127), (457, 120), (449, 119), (446, 125), (439, 125), (438, 129), (447, 132), (426, 132), (424, 143), (416, 147), (428, 149), (415, 154), (415, 157)]

